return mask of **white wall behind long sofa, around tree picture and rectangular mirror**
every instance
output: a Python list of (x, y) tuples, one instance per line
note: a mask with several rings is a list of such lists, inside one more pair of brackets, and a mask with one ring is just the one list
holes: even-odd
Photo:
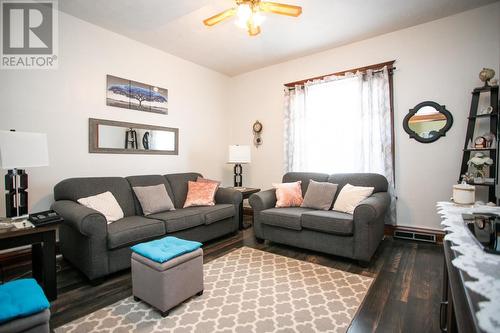
[[(27, 170), (30, 211), (48, 208), (53, 186), (68, 177), (198, 171), (230, 181), (228, 77), (64, 13), (59, 59), (57, 70), (0, 72), (0, 129), (48, 134), (50, 166)], [(169, 89), (169, 114), (106, 106), (106, 74)], [(179, 155), (89, 154), (91, 117), (178, 127)], [(2, 194), (0, 212), (4, 205)]]

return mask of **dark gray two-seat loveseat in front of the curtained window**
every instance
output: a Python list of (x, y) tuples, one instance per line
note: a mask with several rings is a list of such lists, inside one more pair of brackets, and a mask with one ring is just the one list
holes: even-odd
[(384, 218), (391, 198), (387, 179), (370, 173), (334, 174), (291, 172), (283, 182), (302, 181), (302, 195), (309, 180), (338, 184), (335, 199), (342, 187), (373, 186), (373, 194), (362, 201), (354, 214), (310, 208), (274, 208), (274, 189), (253, 194), (249, 201), (254, 212), (254, 231), (258, 241), (277, 243), (348, 257), (366, 265), (384, 235)]

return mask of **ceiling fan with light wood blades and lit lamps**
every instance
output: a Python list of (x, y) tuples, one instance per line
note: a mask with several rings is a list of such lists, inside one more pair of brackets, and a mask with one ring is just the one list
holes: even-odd
[(236, 7), (209, 17), (203, 23), (211, 27), (230, 17), (236, 16), (238, 19), (236, 24), (247, 29), (250, 36), (256, 36), (260, 33), (260, 25), (264, 20), (264, 17), (260, 14), (261, 12), (294, 17), (302, 14), (302, 7), (299, 6), (260, 0), (235, 0), (235, 2)]

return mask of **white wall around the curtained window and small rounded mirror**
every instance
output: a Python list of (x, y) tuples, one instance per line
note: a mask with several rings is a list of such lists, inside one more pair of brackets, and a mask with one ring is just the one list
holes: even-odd
[[(264, 126), (264, 143), (253, 148), (252, 163), (244, 167), (244, 185), (269, 188), (281, 180), (284, 83), (389, 60), (397, 67), (398, 224), (440, 228), (435, 203), (450, 198), (458, 178), (470, 93), (480, 85), (483, 67), (500, 69), (498, 2), (233, 78), (230, 143), (251, 144), (253, 122)], [(454, 117), (446, 137), (432, 144), (410, 140), (401, 125), (408, 110), (424, 100), (446, 105)]]

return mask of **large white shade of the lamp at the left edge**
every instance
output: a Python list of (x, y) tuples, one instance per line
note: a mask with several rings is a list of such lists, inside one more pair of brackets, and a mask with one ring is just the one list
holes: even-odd
[(0, 131), (0, 163), (2, 169), (49, 165), (47, 134)]

